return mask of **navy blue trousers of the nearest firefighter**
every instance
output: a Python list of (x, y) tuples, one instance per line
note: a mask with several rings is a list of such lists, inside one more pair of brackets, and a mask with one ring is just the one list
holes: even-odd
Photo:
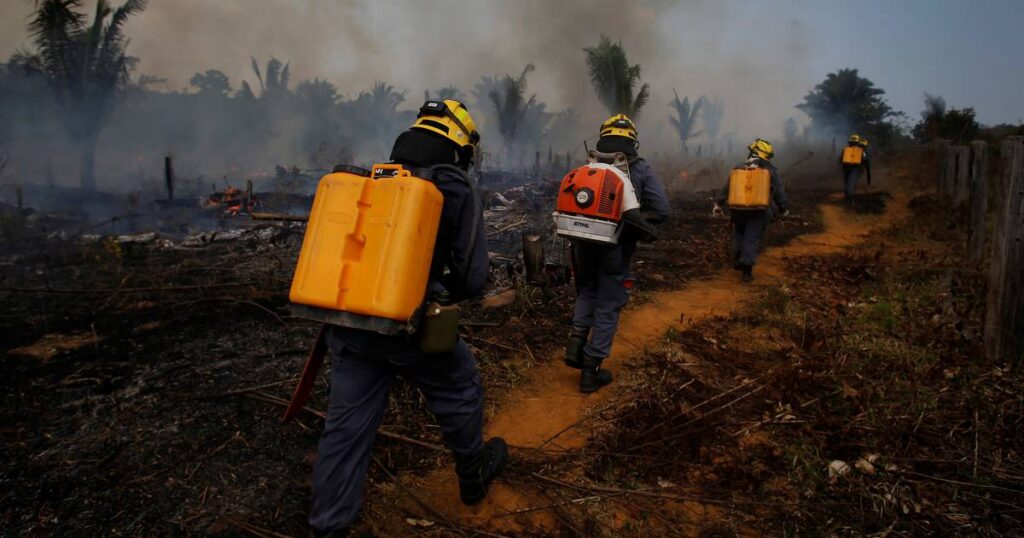
[(327, 343), (331, 401), (309, 511), (309, 525), (318, 532), (348, 527), (358, 513), (374, 438), (395, 376), (423, 392), (457, 458), (483, 448), (483, 386), (473, 354), (461, 338), (454, 353), (441, 356), (421, 354), (416, 338), (335, 327), (328, 331)]

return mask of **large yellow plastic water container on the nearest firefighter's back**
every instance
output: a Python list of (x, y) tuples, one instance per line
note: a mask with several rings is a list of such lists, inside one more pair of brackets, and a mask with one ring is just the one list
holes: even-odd
[[(392, 175), (393, 174), (393, 175)], [(316, 188), (289, 299), (297, 316), (384, 334), (424, 303), (444, 197), (399, 165)]]

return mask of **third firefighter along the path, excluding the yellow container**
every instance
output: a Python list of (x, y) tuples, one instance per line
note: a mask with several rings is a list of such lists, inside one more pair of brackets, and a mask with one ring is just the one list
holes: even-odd
[[(746, 161), (736, 166), (736, 168), (764, 168), (771, 174), (770, 198), (771, 204), (766, 209), (733, 209), (729, 211), (733, 226), (733, 268), (742, 274), (743, 282), (754, 280), (754, 264), (757, 263), (758, 250), (761, 247), (761, 236), (771, 222), (776, 212), (787, 215), (785, 190), (778, 178), (778, 170), (771, 164), (771, 159), (775, 156), (771, 143), (762, 138), (754, 140), (754, 143), (746, 147), (749, 150)], [(722, 195), (716, 201), (713, 214), (721, 216), (722, 206), (725, 205), (729, 197), (729, 182), (726, 181)]]

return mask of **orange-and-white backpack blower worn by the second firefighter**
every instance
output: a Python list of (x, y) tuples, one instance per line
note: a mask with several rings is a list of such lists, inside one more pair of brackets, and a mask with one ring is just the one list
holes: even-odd
[(562, 179), (552, 216), (559, 236), (617, 244), (627, 221), (643, 222), (626, 155), (591, 151), (587, 164)]

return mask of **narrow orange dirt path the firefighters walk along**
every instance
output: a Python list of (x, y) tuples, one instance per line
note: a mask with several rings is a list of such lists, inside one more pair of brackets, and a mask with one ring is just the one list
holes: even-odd
[[(778, 285), (786, 258), (838, 252), (860, 243), (876, 229), (892, 225), (905, 214), (907, 202), (899, 193), (894, 196), (882, 215), (846, 211), (838, 196), (831, 198), (821, 206), (824, 232), (801, 236), (785, 246), (767, 249), (759, 259), (756, 280), (751, 285), (741, 284), (735, 271), (723, 270), (684, 289), (655, 293), (648, 302), (626, 309), (611, 359), (605, 365), (614, 375), (622, 375), (630, 360), (644, 353), (645, 346), (653, 347), (667, 330), (728, 314), (766, 287)], [(596, 394), (582, 395), (577, 388), (578, 382), (579, 373), (566, 368), (560, 356), (551, 358), (546, 365), (535, 368), (529, 380), (508, 397), (490, 418), (485, 438), (503, 437), (513, 447), (526, 449), (583, 447), (589, 434), (588, 413), (630, 395), (618, 394), (614, 383)], [(515, 533), (522, 530), (516, 522), (517, 516), (528, 514), (528, 525), (535, 530), (538, 527), (552, 531), (558, 528), (558, 522), (547, 512), (526, 511), (537, 504), (527, 491), (506, 484), (496, 484), (480, 505), (466, 507), (458, 501), (458, 488), (451, 468), (415, 482), (410, 486), (422, 500), (459, 525)]]

